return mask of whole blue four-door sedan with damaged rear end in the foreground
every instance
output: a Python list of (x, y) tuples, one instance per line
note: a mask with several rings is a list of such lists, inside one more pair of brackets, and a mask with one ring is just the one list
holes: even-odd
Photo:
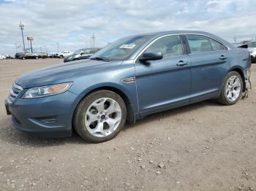
[(50, 137), (72, 130), (93, 143), (113, 139), (126, 122), (217, 99), (233, 105), (246, 90), (246, 48), (202, 31), (128, 36), (75, 63), (18, 77), (5, 101), (12, 125)]

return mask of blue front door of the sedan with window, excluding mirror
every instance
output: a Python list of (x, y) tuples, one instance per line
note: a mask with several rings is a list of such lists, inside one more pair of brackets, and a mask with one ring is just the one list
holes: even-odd
[(141, 117), (189, 104), (191, 62), (183, 47), (181, 36), (162, 36), (144, 51), (162, 52), (162, 60), (146, 63), (136, 61), (135, 76)]

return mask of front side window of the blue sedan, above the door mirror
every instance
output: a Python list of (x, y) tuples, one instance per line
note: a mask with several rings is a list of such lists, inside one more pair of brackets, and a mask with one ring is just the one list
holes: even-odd
[(151, 44), (145, 52), (162, 52), (163, 58), (183, 55), (180, 36), (165, 36)]

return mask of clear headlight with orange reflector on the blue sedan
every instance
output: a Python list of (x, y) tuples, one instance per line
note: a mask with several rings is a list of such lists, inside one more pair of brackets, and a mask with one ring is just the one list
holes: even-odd
[(64, 93), (71, 87), (73, 82), (67, 82), (58, 85), (47, 85), (41, 87), (32, 87), (24, 93), (22, 98), (41, 98), (48, 95), (56, 95), (59, 93)]

